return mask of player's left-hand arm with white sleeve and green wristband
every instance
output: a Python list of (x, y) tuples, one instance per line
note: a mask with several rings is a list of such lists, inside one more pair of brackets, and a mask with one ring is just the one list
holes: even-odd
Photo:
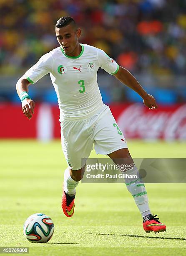
[(35, 103), (28, 95), (28, 86), (35, 84), (40, 78), (48, 74), (52, 63), (53, 59), (50, 53), (43, 55), (33, 67), (28, 69), (16, 84), (16, 90), (22, 102), (23, 113), (28, 119), (32, 118), (35, 108)]

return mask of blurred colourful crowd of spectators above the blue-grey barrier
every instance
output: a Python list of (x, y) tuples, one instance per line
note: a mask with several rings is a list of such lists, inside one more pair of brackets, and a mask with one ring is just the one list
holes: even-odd
[(185, 74), (186, 0), (1, 0), (0, 74), (16, 74), (58, 47), (55, 23), (72, 16), (80, 42), (131, 72)]

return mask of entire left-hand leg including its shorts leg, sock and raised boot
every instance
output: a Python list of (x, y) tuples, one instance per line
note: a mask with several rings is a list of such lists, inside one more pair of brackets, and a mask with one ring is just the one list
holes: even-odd
[(75, 188), (83, 178), (86, 159), (93, 149), (93, 139), (87, 131), (88, 119), (64, 120), (61, 123), (61, 143), (68, 168), (64, 173), (62, 209), (67, 217), (74, 213)]

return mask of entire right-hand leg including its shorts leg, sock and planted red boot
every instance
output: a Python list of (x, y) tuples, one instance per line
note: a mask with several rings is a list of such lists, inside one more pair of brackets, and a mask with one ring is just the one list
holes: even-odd
[[(116, 164), (133, 164), (133, 159), (128, 151), (126, 140), (109, 108), (98, 116), (93, 131), (93, 138), (94, 148), (97, 154), (110, 156)], [(134, 164), (133, 169), (128, 170), (125, 173), (138, 177), (138, 169)], [(141, 212), (144, 230), (147, 232), (166, 230), (166, 226), (158, 221), (156, 215), (151, 215), (148, 206), (147, 192), (143, 181), (141, 179), (127, 180), (126, 186)]]

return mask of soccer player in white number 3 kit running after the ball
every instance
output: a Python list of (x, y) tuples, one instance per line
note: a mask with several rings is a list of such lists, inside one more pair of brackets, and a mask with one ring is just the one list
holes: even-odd
[[(98, 69), (101, 67), (136, 91), (150, 110), (156, 109), (157, 105), (154, 97), (141, 87), (133, 75), (118, 66), (104, 51), (79, 44), (81, 30), (73, 18), (60, 18), (55, 25), (55, 33), (60, 46), (43, 55), (18, 80), (16, 88), (23, 113), (30, 119), (35, 103), (28, 95), (28, 86), (50, 73), (58, 96), (61, 142), (68, 163), (64, 173), (62, 209), (67, 217), (72, 217), (75, 188), (85, 172), (86, 161), (82, 159), (89, 157), (93, 144), (97, 154), (108, 155), (116, 164), (121, 164), (121, 159), (122, 164), (133, 164), (123, 133), (110, 108), (103, 104), (97, 84)], [(126, 174), (137, 175), (136, 166), (133, 164)], [(131, 179), (126, 186), (141, 212), (144, 230), (155, 233), (165, 231), (166, 225), (156, 218), (157, 215), (151, 214), (144, 183), (140, 179)]]

